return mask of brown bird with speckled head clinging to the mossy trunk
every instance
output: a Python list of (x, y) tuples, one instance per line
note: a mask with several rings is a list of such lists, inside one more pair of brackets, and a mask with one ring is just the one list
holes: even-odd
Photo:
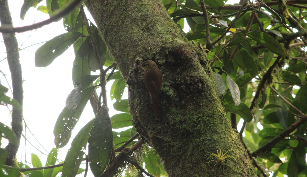
[(157, 64), (152, 60), (146, 60), (141, 65), (135, 66), (134, 68), (136, 67), (141, 67), (145, 70), (143, 81), (151, 96), (154, 113), (160, 115), (158, 94), (162, 85), (162, 73)]

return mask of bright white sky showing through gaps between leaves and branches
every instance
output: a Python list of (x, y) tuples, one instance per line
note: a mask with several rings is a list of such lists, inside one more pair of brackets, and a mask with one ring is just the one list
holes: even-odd
[[(49, 18), (47, 14), (44, 14), (40, 11), (36, 11), (32, 7), (28, 10), (25, 15), (25, 19), (22, 21), (20, 19), (20, 10), (23, 2), (23, 0), (9, 1), (10, 12), (13, 18), (14, 27), (30, 25), (34, 22), (40, 22)], [(45, 5), (44, 3), (45, 1), (43, 1), (39, 5)], [(35, 21), (33, 19), (35, 19)], [(185, 24), (185, 26), (188, 25)], [(63, 20), (60, 20), (50, 25), (46, 25), (40, 29), (33, 30), (32, 32), (28, 31), (25, 33), (17, 33), (16, 37), (18, 40), (18, 45), (22, 49), (33, 44), (48, 41), (62, 33), (66, 33), (66, 31), (63, 28)], [(1, 33), (0, 36), (1, 61), (6, 57), (6, 51)], [(67, 95), (73, 89), (71, 75), (72, 63), (75, 55), (73, 53), (73, 48), (70, 47), (66, 52), (64, 52), (64, 54), (56, 58), (48, 67), (38, 68), (34, 66), (34, 54), (37, 48), (39, 48), (42, 44), (33, 45), (20, 51), (20, 63), (22, 67), (22, 76), (24, 79), (23, 116), (31, 132), (34, 134), (37, 140), (40, 141), (42, 146), (49, 152), (53, 147), (55, 147), (53, 128), (56, 119), (65, 106), (65, 100)], [(9, 80), (9, 84), (12, 87), (11, 75), (6, 59), (0, 62), (0, 70), (2, 70), (2, 72), (7, 75), (6, 78)], [(0, 75), (0, 79), (1, 84), (9, 88), (8, 83), (6, 83), (6, 80), (2, 75)], [(107, 84), (107, 90), (110, 90), (112, 82), (113, 81)], [(7, 95), (12, 97), (10, 90)], [(114, 114), (118, 114), (119, 111), (115, 111), (113, 109), (113, 103), (110, 100), (109, 95), (110, 93), (108, 92), (108, 105), (110, 108), (110, 116), (112, 116)], [(123, 95), (123, 99), (126, 98), (127, 91), (125, 91)], [(11, 109), (11, 106), (9, 106), (9, 108)], [(0, 122), (10, 126), (11, 115), (10, 111), (6, 106), (0, 106), (0, 115)], [(66, 153), (68, 151), (68, 148), (70, 147), (73, 137), (75, 137), (76, 133), (78, 133), (78, 131), (93, 117), (95, 117), (95, 115), (92, 111), (92, 108), (90, 104), (87, 104), (83, 111), (83, 114), (80, 117), (79, 122), (75, 127), (75, 130), (72, 131), (72, 138), (70, 142), (64, 148), (60, 148), (58, 159), (65, 159)], [(46, 152), (37, 143), (37, 141), (33, 138), (28, 129), (25, 131), (24, 128), (23, 134), (26, 135), (28, 140), (36, 148), (48, 155), (48, 152)], [(7, 145), (8, 141), (2, 138), (1, 143), (1, 148), (4, 148)], [(31, 153), (34, 153), (38, 155), (44, 166), (47, 159), (47, 155), (43, 155), (41, 152), (36, 150), (32, 145), (29, 144), (29, 142), (26, 142), (25, 146), (25, 139), (21, 137), (21, 144), (17, 153), (18, 161), (21, 161), (23, 163), (25, 163), (26, 161), (27, 164), (31, 167), (32, 165), (29, 164), (31, 162)], [(85, 168), (85, 165), (81, 165), (81, 167)], [(84, 174), (82, 174), (82, 176), (83, 175)], [(93, 176), (90, 170), (88, 171), (87, 176)]]

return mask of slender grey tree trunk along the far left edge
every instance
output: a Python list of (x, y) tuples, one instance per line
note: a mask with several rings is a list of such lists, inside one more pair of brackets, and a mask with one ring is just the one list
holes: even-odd
[[(0, 22), (2, 27), (13, 27), (12, 17), (7, 0), (0, 1)], [(2, 33), (2, 36), (6, 47), (7, 61), (11, 71), (13, 98), (17, 100), (22, 107), (22, 73), (21, 64), (19, 63), (19, 48), (17, 39), (15, 37), (15, 33)], [(17, 166), (16, 153), (19, 148), (22, 132), (22, 111), (17, 110), (14, 106), (12, 110), (12, 130), (16, 134), (18, 144), (12, 144), (9, 142), (9, 144), (6, 146), (6, 165)]]

